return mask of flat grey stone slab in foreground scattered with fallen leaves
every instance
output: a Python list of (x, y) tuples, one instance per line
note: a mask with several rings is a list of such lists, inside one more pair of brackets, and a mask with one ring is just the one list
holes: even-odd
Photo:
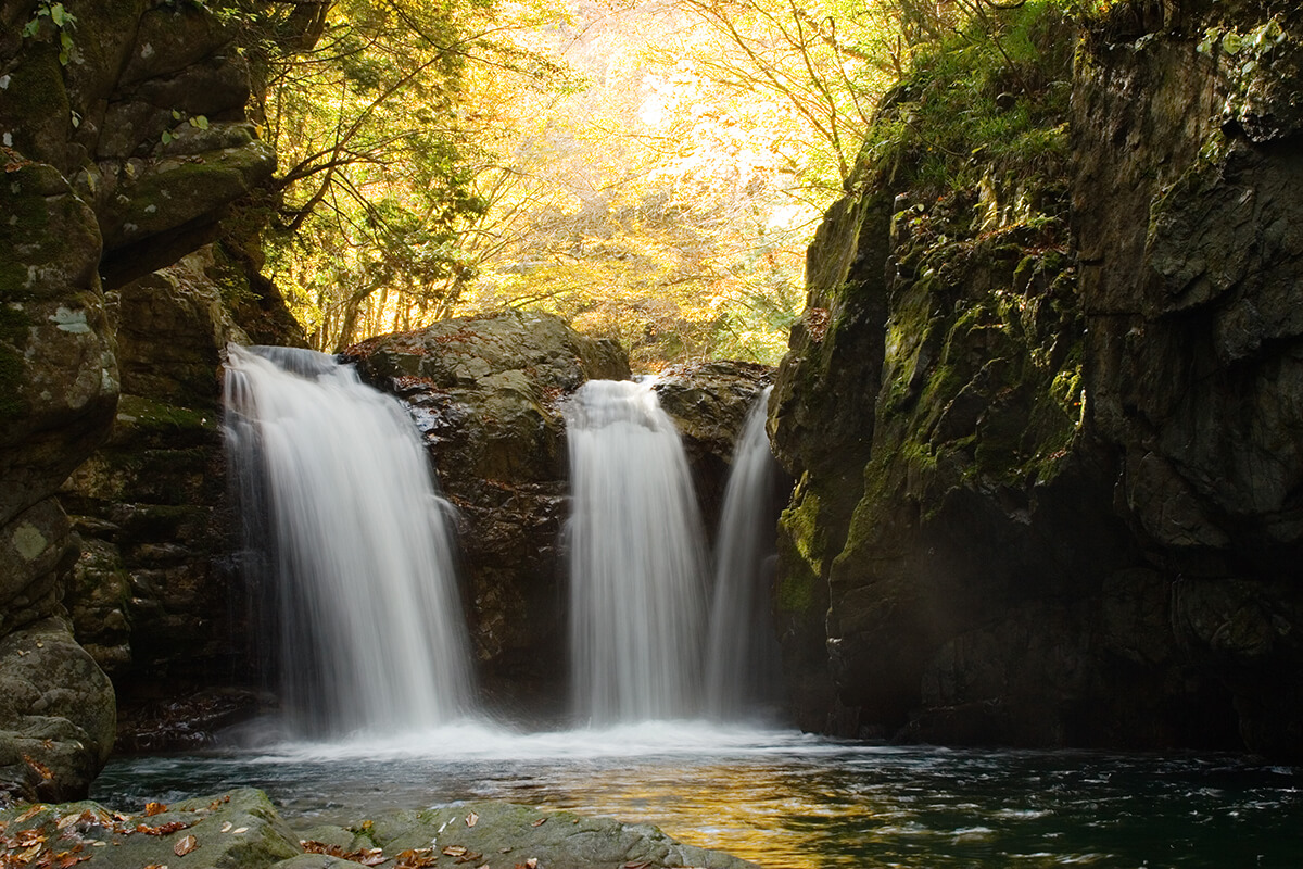
[(649, 825), (509, 803), (386, 812), (296, 833), (267, 796), (245, 788), (121, 814), (95, 803), (0, 812), (0, 866), (90, 869), (747, 869)]

